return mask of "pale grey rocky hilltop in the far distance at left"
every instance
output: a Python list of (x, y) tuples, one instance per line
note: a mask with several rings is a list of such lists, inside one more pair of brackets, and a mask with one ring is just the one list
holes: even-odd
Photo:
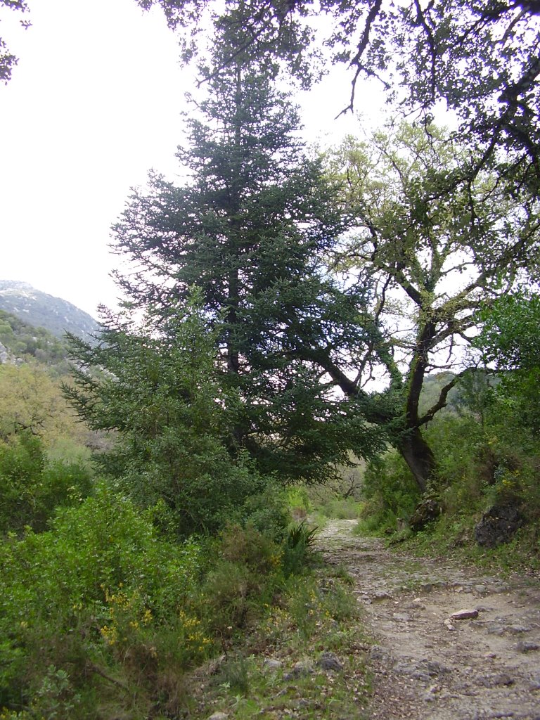
[(68, 332), (91, 339), (99, 328), (97, 320), (67, 300), (35, 289), (26, 282), (0, 280), (0, 310), (9, 312), (36, 328), (45, 328), (57, 338)]

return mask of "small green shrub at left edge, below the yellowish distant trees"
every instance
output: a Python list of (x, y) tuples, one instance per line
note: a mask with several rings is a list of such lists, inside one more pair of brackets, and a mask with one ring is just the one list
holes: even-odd
[(86, 464), (48, 459), (28, 431), (0, 441), (0, 533), (42, 531), (58, 507), (77, 505), (91, 488)]

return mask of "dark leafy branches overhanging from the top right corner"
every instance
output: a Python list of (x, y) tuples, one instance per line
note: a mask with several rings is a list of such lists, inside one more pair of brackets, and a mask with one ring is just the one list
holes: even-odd
[[(238, 22), (259, 55), (297, 57), (330, 51), (331, 63), (351, 73), (356, 109), (360, 78), (378, 78), (391, 102), (430, 120), (440, 102), (460, 119), (459, 135), (480, 149), (478, 161), (504, 153), (516, 181), (529, 189), (540, 178), (540, 4), (538, 1), (253, 0), (230, 2), (223, 12), (210, 0), (138, 0), (163, 7), (184, 34), (208, 7), (219, 22)], [(320, 22), (320, 16), (325, 20)], [(186, 45), (187, 43), (187, 45)], [(233, 60), (234, 50), (223, 58)], [(189, 56), (187, 53), (186, 56)], [(294, 63), (290, 65), (294, 69)], [(315, 77), (317, 73), (315, 73)], [(204, 73), (203, 76), (204, 78)], [(309, 77), (302, 70), (302, 78)], [(535, 191), (536, 192), (536, 191)]]

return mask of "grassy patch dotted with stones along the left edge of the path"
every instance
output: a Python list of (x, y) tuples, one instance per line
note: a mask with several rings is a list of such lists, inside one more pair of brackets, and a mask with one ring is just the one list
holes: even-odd
[[(189, 716), (223, 712), (238, 720), (366, 717), (369, 642), (343, 570), (294, 577), (282, 601), (219, 667), (192, 674)], [(331, 652), (342, 670), (324, 670)]]

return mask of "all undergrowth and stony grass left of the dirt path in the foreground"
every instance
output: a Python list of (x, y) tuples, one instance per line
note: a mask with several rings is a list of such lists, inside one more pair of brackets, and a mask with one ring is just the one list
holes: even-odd
[[(179, 542), (155, 514), (97, 485), (48, 531), (6, 537), (1, 720), (202, 719), (217, 707), (273, 717), (292, 706), (337, 718), (365, 698), (356, 600), (313, 569), (312, 526), (264, 534), (247, 519)], [(324, 652), (343, 670), (320, 667)]]

